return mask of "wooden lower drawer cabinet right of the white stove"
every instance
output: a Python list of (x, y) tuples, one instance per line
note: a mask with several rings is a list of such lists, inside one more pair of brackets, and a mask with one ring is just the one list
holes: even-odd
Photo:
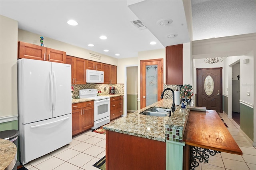
[(110, 121), (123, 114), (123, 96), (110, 98)]

